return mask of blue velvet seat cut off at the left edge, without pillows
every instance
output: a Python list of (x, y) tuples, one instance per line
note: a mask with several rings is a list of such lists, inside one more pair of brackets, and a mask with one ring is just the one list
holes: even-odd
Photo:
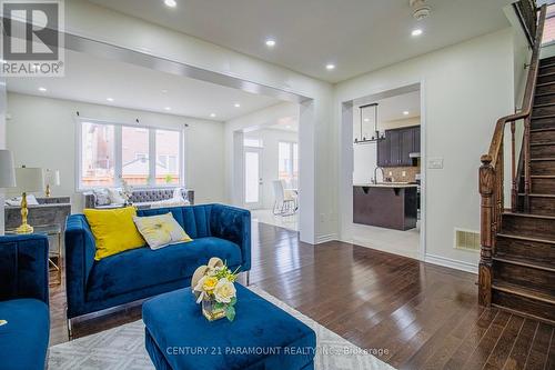
[(48, 239), (0, 237), (0, 368), (43, 370), (50, 337)]

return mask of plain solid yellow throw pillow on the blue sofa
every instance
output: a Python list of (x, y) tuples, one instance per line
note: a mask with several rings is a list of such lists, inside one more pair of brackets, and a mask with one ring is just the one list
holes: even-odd
[(137, 231), (133, 222), (133, 217), (137, 216), (134, 207), (109, 210), (85, 209), (83, 213), (97, 240), (94, 254), (97, 261), (144, 246), (144, 239)]

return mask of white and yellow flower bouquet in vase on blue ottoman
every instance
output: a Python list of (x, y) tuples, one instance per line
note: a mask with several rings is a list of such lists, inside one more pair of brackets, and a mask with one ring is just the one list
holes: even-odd
[(196, 303), (202, 304), (202, 314), (214, 321), (222, 318), (233, 321), (235, 318), (236, 290), (235, 280), (239, 268), (231, 271), (219, 258), (211, 258), (208, 266), (194, 271), (191, 287)]

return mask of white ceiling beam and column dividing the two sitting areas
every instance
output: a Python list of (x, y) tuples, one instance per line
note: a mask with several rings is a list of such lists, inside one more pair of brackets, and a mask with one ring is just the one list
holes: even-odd
[(301, 240), (321, 242), (336, 236), (337, 161), (332, 134), (331, 83), (83, 0), (65, 1), (65, 29), (73, 34), (311, 98), (303, 102), (300, 113)]

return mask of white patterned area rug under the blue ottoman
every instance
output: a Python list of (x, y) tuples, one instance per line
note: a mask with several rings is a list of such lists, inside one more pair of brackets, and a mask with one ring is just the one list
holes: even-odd
[[(263, 290), (250, 287), (256, 294), (304, 322), (316, 333), (317, 370), (391, 370), (387, 363), (322, 327)], [(50, 348), (50, 370), (152, 370), (144, 349), (142, 320)], [(285, 369), (284, 369), (285, 370)]]

